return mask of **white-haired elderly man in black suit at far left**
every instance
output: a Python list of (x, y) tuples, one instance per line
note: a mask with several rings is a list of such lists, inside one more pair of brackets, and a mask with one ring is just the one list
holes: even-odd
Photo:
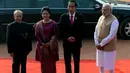
[(7, 26), (7, 48), (13, 58), (12, 73), (26, 73), (27, 55), (32, 50), (32, 27), (22, 21), (23, 12), (14, 11), (14, 22)]

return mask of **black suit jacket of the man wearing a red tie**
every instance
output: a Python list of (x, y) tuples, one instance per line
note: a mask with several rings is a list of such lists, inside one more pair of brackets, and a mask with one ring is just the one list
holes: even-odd
[[(83, 16), (79, 13), (75, 13), (73, 24), (70, 23), (69, 13), (61, 15), (59, 22), (59, 30), (63, 37), (63, 47), (69, 46), (82, 46), (82, 27), (84, 24)], [(68, 37), (75, 37), (76, 42), (70, 43), (67, 41)]]

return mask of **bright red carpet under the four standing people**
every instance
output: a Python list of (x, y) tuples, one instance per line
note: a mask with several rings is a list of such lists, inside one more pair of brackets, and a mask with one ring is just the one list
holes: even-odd
[[(11, 59), (0, 59), (0, 73), (11, 73)], [(73, 67), (73, 63), (72, 63)], [(27, 73), (40, 73), (40, 63), (34, 59), (28, 59)], [(64, 61), (57, 62), (57, 73), (65, 73)], [(80, 73), (99, 73), (95, 66), (95, 60), (81, 60)], [(130, 73), (130, 60), (117, 60), (115, 73)]]

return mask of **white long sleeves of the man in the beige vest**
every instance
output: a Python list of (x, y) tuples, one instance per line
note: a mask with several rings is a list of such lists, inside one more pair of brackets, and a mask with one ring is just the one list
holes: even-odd
[(95, 45), (101, 45), (102, 47), (109, 43), (117, 34), (118, 31), (119, 22), (117, 19), (115, 19), (111, 24), (110, 34), (104, 38), (101, 43), (98, 42), (98, 28), (96, 25), (95, 32), (94, 32), (94, 41)]

